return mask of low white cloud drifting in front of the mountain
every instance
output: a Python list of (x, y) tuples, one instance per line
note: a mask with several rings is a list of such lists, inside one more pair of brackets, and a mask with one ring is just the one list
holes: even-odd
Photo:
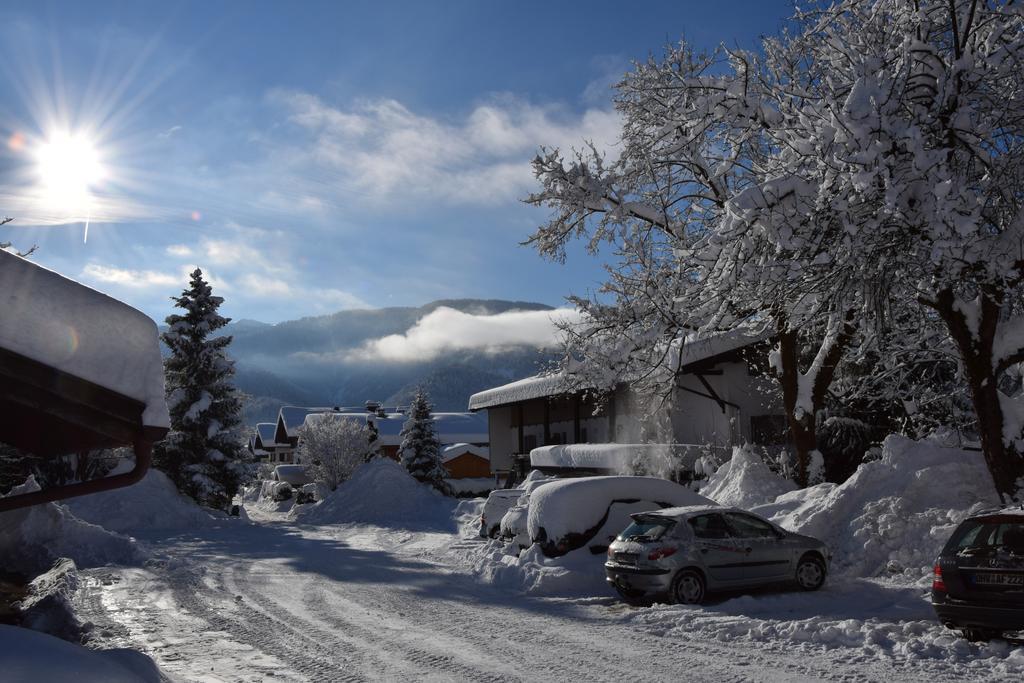
[(441, 307), (417, 321), (401, 335), (367, 342), (335, 359), (391, 361), (430, 360), (446, 351), (499, 351), (511, 346), (551, 347), (560, 334), (556, 322), (579, 319), (574, 308), (516, 310), (495, 315), (476, 315)]

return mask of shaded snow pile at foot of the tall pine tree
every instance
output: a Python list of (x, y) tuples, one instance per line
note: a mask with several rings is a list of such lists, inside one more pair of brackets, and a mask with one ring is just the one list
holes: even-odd
[[(112, 474), (132, 467), (134, 463), (122, 461)], [(79, 519), (120, 533), (197, 528), (212, 521), (157, 469), (150, 469), (141, 481), (131, 486), (73, 498), (65, 505)]]

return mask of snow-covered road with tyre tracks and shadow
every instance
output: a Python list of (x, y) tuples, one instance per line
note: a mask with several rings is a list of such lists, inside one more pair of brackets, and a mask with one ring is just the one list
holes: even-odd
[(453, 545), (478, 543), (450, 529), (297, 526), (268, 515), (144, 541), (154, 557), (145, 568), (83, 572), (78, 609), (104, 646), (139, 648), (175, 680), (937, 681), (965, 673), (941, 660), (680, 633), (658, 627), (666, 608), (610, 597), (524, 598), (445, 563)]

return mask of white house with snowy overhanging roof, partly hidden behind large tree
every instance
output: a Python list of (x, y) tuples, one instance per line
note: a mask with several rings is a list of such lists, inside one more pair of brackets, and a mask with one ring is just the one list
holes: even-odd
[[(723, 334), (684, 346), (671, 414), (679, 444), (728, 446), (743, 441), (778, 444), (786, 439), (781, 398), (763, 376), (768, 337)], [(626, 384), (601, 396), (569, 388), (564, 376), (540, 375), (473, 394), (470, 411), (486, 411), (490, 467), (505, 472), (528, 462), (539, 446), (566, 443), (643, 443), (649, 416)], [(602, 457), (608, 457), (608, 452)]]

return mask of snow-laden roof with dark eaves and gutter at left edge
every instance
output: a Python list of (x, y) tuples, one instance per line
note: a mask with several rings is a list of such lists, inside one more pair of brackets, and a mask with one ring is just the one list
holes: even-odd
[(126, 486), (169, 428), (157, 325), (0, 250), (0, 441), (42, 458), (131, 445), (130, 472), (0, 498), (0, 511)]

